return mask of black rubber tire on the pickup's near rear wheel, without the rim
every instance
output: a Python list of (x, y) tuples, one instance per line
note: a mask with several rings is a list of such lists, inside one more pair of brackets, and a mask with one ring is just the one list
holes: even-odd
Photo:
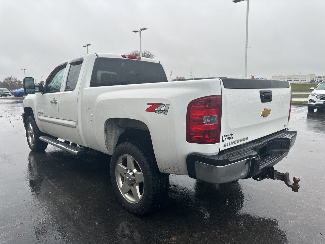
[[(120, 192), (116, 181), (115, 167), (122, 155), (132, 156), (141, 168), (144, 190), (138, 203), (130, 203)], [(169, 188), (169, 175), (159, 171), (152, 145), (147, 142), (123, 142), (114, 150), (110, 161), (110, 176), (114, 192), (123, 207), (130, 212), (142, 215), (150, 212), (166, 199)]]

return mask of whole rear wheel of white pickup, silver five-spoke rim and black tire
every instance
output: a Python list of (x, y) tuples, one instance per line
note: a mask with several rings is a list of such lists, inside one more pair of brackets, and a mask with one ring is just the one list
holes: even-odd
[(150, 212), (167, 197), (169, 175), (159, 171), (149, 143), (119, 144), (111, 158), (110, 176), (115, 194), (132, 213)]

